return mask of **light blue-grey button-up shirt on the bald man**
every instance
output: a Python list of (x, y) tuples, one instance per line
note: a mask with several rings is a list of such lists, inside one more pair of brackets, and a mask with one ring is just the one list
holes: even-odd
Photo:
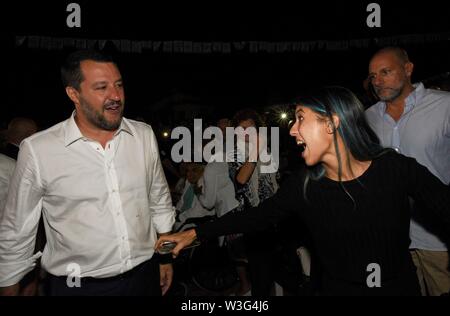
[[(415, 158), (443, 183), (450, 183), (450, 93), (425, 89), (422, 83), (405, 100), (396, 122), (378, 102), (366, 111), (369, 125), (385, 147)], [(440, 238), (411, 221), (411, 248), (446, 251)]]

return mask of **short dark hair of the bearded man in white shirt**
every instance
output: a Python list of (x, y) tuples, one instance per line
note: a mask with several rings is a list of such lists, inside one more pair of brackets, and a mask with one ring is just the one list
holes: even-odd
[(67, 56), (61, 67), (61, 80), (64, 87), (73, 87), (80, 90), (80, 84), (84, 80), (81, 72), (81, 62), (92, 60), (101, 63), (114, 63), (111, 56), (104, 55), (95, 50), (79, 50)]

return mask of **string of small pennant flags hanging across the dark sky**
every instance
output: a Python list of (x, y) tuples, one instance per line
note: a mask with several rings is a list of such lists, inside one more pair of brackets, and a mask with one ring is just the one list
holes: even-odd
[(100, 49), (112, 45), (123, 53), (169, 53), (169, 54), (231, 54), (247, 53), (308, 53), (313, 51), (346, 51), (372, 46), (419, 45), (450, 40), (450, 32), (430, 34), (407, 34), (389, 37), (350, 40), (314, 40), (301, 42), (268, 41), (141, 41), (127, 39), (87, 39), (72, 37), (16, 36), (15, 46), (41, 50)]

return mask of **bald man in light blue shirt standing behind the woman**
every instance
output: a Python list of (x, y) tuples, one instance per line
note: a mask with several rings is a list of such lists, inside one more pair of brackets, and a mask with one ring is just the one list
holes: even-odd
[[(369, 79), (379, 102), (366, 111), (381, 144), (415, 158), (450, 183), (450, 93), (412, 84), (414, 65), (405, 50), (387, 47), (370, 60)], [(450, 291), (448, 232), (412, 204), (411, 255), (422, 294)], [(382, 268), (382, 267), (381, 267)]]

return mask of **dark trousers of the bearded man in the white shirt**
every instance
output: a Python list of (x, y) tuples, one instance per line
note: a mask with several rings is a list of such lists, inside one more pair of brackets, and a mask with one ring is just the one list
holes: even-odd
[(85, 277), (80, 287), (68, 287), (66, 276), (49, 274), (51, 296), (161, 296), (159, 263), (152, 258), (110, 278)]

